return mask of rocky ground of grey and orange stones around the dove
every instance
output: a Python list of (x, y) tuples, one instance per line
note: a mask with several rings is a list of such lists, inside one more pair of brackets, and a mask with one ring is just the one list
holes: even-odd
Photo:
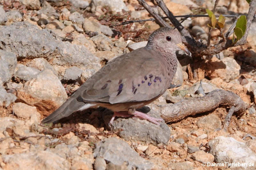
[[(204, 14), (209, 0), (165, 0), (174, 15)], [(1, 169), (256, 169), (256, 22), (248, 43), (208, 56), (201, 63), (205, 93), (230, 90), (246, 103), (241, 118), (232, 116), (222, 129), (226, 106), (157, 126), (145, 120), (118, 118), (112, 112), (89, 109), (58, 124), (40, 121), (87, 78), (114, 57), (146, 45), (159, 28), (136, 0), (0, 0), (0, 170)], [(160, 15), (163, 12), (152, 2)], [(184, 5), (186, 4), (186, 6)], [(221, 14), (247, 13), (245, 0), (220, 0)], [(209, 18), (182, 23), (206, 43)], [(234, 20), (227, 18), (224, 31)], [(220, 40), (212, 32), (212, 43)], [(173, 84), (158, 100), (144, 107), (159, 116), (165, 106), (196, 98), (200, 81), (189, 79), (191, 57), (180, 53)], [(211, 163), (247, 163), (254, 166)], [(206, 163), (206, 166), (203, 165)], [(207, 164), (208, 163), (208, 164)]]

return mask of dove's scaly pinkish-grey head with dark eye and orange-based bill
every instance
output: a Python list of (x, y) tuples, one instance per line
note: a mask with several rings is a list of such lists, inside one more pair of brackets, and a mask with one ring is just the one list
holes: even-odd
[(189, 55), (188, 48), (182, 44), (180, 33), (168, 27), (158, 28), (154, 31), (148, 38), (147, 46), (167, 54), (175, 54), (181, 49)]

